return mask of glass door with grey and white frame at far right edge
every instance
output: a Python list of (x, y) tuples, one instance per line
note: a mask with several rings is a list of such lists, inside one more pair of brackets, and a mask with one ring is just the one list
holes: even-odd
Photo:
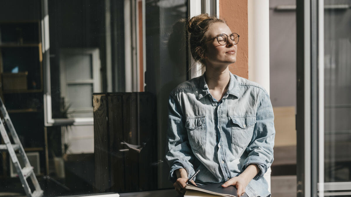
[(351, 195), (351, 1), (297, 1), (297, 196)]

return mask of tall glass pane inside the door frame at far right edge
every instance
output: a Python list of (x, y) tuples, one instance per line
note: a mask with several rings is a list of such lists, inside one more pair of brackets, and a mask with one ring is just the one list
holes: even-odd
[(351, 181), (351, 1), (324, 2), (324, 179)]

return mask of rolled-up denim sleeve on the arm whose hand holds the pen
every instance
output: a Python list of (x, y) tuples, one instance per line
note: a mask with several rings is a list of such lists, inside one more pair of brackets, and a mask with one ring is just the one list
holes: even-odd
[(165, 159), (170, 166), (169, 179), (177, 180), (174, 170), (184, 168), (190, 178), (194, 174), (194, 156), (189, 142), (179, 101), (170, 95), (168, 100), (168, 129)]

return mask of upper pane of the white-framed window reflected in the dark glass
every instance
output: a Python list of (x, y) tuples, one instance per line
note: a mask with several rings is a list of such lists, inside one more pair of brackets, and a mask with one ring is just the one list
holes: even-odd
[(66, 66), (67, 81), (93, 79), (91, 55), (65, 54), (62, 61)]

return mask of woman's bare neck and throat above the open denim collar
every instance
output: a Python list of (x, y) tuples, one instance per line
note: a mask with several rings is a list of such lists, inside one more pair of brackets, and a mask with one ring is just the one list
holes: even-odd
[(205, 81), (208, 89), (224, 93), (230, 80), (228, 66), (225, 68), (213, 68), (206, 66)]

